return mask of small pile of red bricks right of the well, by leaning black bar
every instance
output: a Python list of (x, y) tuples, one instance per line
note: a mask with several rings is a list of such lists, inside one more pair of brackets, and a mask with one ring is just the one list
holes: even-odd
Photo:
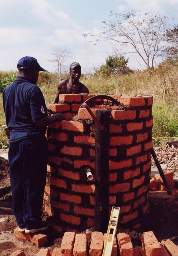
[[(174, 171), (165, 171), (164, 176), (167, 180), (168, 186), (170, 189), (174, 188)], [(155, 174), (150, 180), (150, 189), (152, 191), (160, 190), (160, 191), (166, 191), (166, 187), (164, 185), (164, 182), (162, 180), (162, 177), (159, 174)]]

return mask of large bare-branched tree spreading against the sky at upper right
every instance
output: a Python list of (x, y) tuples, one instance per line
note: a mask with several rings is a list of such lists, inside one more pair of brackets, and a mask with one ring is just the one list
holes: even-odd
[(119, 43), (122, 50), (126, 48), (125, 53), (136, 53), (151, 72), (156, 57), (168, 44), (164, 38), (164, 31), (169, 29), (168, 17), (148, 12), (141, 16), (138, 10), (119, 14), (111, 12), (111, 16), (115, 19), (103, 21), (104, 27), (99, 35), (90, 36), (96, 36), (97, 41), (112, 40)]

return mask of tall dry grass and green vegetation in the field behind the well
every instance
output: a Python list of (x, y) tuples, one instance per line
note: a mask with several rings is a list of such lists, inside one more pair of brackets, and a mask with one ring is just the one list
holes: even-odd
[[(125, 60), (124, 60), (125, 61)], [(126, 62), (127, 63), (127, 62)], [(7, 80), (6, 85), (14, 79), (16, 72), (0, 72), (0, 85)], [(8, 79), (6, 79), (8, 77)], [(67, 75), (63, 74), (62, 79)], [(40, 72), (38, 86), (45, 96), (46, 104), (51, 104), (56, 95), (59, 75), (51, 72)], [(80, 81), (85, 84), (90, 93), (116, 95), (152, 95), (153, 96), (153, 143), (158, 145), (166, 138), (178, 140), (178, 65), (163, 62), (152, 75), (147, 70), (132, 71), (126, 75), (108, 74), (96, 70), (94, 74), (82, 74)], [(1, 87), (0, 87), (1, 88)], [(0, 148), (7, 145), (5, 117), (0, 93)]]

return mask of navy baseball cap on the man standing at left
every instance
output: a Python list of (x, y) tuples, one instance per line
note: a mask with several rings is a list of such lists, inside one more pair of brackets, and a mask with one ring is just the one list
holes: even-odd
[(35, 69), (35, 67), (40, 71), (46, 71), (45, 69), (40, 67), (37, 59), (30, 56), (22, 57), (17, 63), (17, 69)]

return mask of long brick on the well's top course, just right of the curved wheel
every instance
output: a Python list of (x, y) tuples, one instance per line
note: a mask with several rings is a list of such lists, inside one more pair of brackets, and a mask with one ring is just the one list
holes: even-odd
[(119, 99), (121, 104), (124, 104), (126, 106), (130, 107), (140, 107), (145, 106), (145, 99), (143, 97), (139, 96), (121, 96)]

